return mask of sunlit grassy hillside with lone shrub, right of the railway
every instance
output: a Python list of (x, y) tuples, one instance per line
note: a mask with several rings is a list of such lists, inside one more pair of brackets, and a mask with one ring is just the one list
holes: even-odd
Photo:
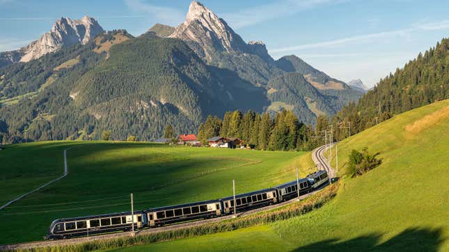
[(340, 142), (382, 164), (343, 176), (336, 199), (274, 224), (116, 251), (449, 251), (449, 100), (397, 115)]

